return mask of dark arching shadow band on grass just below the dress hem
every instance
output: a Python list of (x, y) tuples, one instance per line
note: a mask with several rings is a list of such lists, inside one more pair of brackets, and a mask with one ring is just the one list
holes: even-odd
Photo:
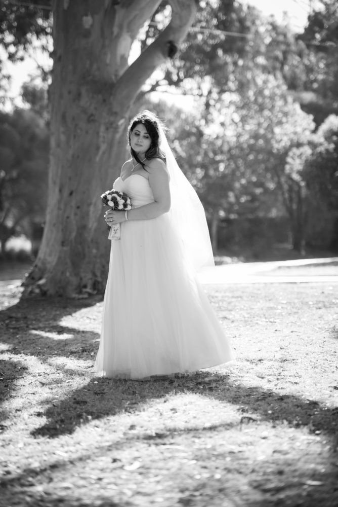
[(293, 427), (309, 426), (311, 431), (338, 434), (338, 407), (329, 409), (315, 400), (292, 394), (280, 395), (259, 386), (250, 387), (230, 380), (229, 376), (197, 372), (187, 377), (138, 382), (97, 377), (75, 389), (65, 400), (47, 408), (47, 423), (34, 430), (58, 437), (72, 433), (85, 421), (121, 412), (135, 412), (150, 400), (167, 394), (198, 393), (220, 402), (239, 405), (242, 414), (254, 413), (267, 422), (283, 421)]

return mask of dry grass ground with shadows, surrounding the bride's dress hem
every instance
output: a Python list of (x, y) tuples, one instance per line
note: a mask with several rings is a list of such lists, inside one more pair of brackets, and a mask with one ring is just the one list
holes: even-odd
[(2, 287), (1, 507), (338, 505), (338, 285), (206, 286), (235, 363), (97, 378), (101, 298)]

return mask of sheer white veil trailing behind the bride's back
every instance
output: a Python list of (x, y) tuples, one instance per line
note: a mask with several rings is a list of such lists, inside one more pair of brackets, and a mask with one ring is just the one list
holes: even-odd
[(194, 268), (200, 271), (204, 267), (215, 265), (204, 208), (192, 185), (178, 166), (161, 125), (159, 125), (159, 130), (160, 149), (165, 154), (170, 175), (172, 203), (168, 214), (174, 222), (174, 227), (184, 243)]

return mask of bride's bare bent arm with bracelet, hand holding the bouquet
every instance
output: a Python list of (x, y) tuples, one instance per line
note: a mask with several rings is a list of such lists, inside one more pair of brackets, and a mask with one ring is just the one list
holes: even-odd
[[(154, 196), (154, 202), (133, 208), (128, 211), (128, 220), (150, 220), (170, 210), (169, 175), (165, 164), (160, 159), (153, 159), (147, 164), (149, 185)], [(124, 222), (124, 211), (108, 210), (105, 214), (108, 225)]]

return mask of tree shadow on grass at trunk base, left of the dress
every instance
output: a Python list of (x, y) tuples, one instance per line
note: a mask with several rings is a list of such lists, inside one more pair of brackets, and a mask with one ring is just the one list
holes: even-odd
[[(92, 307), (102, 301), (101, 296), (84, 300), (61, 298), (22, 298), (13, 306), (0, 311), (0, 342), (11, 359), (0, 363), (0, 402), (12, 395), (15, 380), (25, 377), (28, 370), (21, 356), (34, 355), (42, 363), (51, 357), (88, 360), (93, 363), (99, 334), (61, 325), (63, 317)], [(19, 356), (14, 360), (13, 356)], [(0, 356), (1, 357), (1, 356)], [(55, 368), (57, 368), (55, 366)], [(8, 419), (9, 412), (2, 410), (0, 420)], [(6, 430), (2, 424), (1, 430)]]

